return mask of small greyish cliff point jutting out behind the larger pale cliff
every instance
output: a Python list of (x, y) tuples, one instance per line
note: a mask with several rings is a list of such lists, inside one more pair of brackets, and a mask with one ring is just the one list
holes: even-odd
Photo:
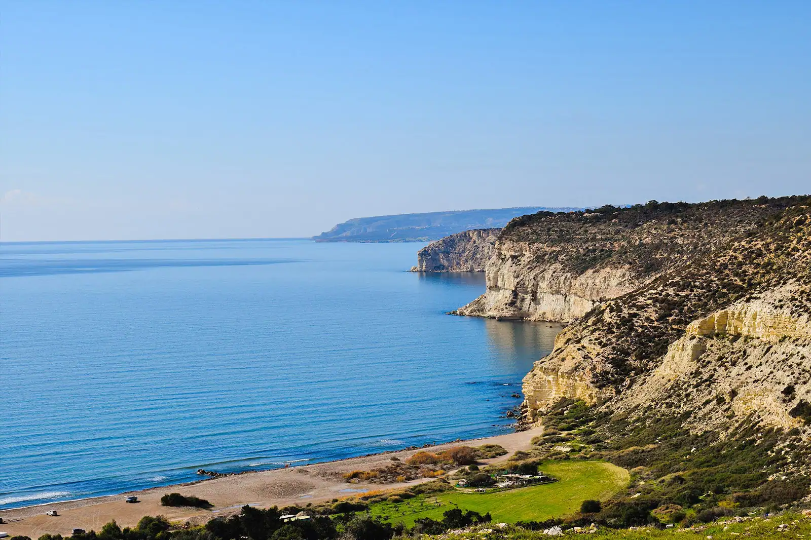
[(431, 242), (417, 252), (411, 272), (484, 272), (501, 229), (474, 229)]

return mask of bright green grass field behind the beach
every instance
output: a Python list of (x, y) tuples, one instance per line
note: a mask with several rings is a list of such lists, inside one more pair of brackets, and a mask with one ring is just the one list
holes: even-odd
[(577, 512), (586, 499), (607, 499), (629, 481), (627, 470), (603, 461), (547, 461), (540, 469), (560, 482), (496, 493), (457, 490), (421, 495), (401, 503), (373, 504), (370, 511), (408, 526), (420, 517), (442, 519), (443, 512), (451, 508), (490, 512), (495, 522), (543, 521)]

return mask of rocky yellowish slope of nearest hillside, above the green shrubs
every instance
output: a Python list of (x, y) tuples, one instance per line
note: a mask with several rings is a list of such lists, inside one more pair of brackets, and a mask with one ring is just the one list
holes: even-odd
[(566, 328), (524, 379), (526, 421), (575, 397), (640, 422), (667, 411), (723, 433), (745, 418), (811, 438), (811, 199), (800, 202)]

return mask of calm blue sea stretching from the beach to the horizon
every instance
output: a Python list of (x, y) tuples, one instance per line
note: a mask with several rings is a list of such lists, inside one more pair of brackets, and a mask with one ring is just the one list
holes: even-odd
[(510, 430), (559, 328), (421, 244), (0, 244), (0, 508)]

